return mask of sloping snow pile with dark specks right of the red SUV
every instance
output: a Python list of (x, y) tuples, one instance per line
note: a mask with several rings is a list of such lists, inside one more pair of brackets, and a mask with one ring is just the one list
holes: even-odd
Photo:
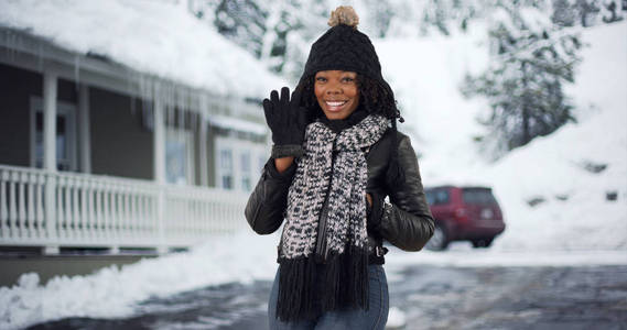
[[(625, 109), (564, 127), (485, 173), (509, 220), (496, 248), (627, 249)], [(606, 200), (612, 194), (617, 200)]]

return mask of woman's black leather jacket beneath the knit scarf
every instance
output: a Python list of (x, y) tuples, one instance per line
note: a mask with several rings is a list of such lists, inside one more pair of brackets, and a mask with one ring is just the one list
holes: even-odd
[[(382, 239), (406, 251), (420, 251), (433, 234), (433, 217), (426, 204), (418, 160), (407, 135), (397, 132), (398, 160), (404, 180), (392, 185), (387, 178), (389, 153), (392, 150), (392, 130), (388, 130), (367, 153), (368, 184), (366, 191), (389, 196), (391, 207), (385, 209), (379, 232), (368, 232), (370, 251), (381, 246)], [(248, 199), (246, 219), (259, 234), (274, 232), (283, 222), (288, 190), (295, 164), (278, 173), (271, 158)], [(372, 258), (371, 258), (372, 260)], [(379, 258), (382, 263), (382, 257)]]

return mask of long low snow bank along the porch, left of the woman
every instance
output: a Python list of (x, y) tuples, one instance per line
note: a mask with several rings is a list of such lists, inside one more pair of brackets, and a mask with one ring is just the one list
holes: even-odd
[[(242, 220), (244, 221), (244, 220)], [(187, 253), (144, 258), (89, 276), (61, 276), (41, 285), (28, 273), (13, 287), (0, 287), (0, 329), (20, 329), (66, 317), (119, 318), (133, 304), (224, 283), (272, 280), (278, 235), (248, 230), (218, 237)]]

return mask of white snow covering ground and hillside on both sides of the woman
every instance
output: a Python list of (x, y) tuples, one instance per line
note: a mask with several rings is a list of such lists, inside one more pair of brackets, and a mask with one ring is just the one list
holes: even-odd
[[(591, 46), (582, 52), (576, 85), (569, 88), (580, 123), (537, 139), (495, 164), (482, 161), (471, 141), (480, 132), (474, 118), (486, 102), (464, 100), (457, 91), (463, 74), (480, 69), (488, 58), (477, 45), (480, 35), (377, 43), (385, 75), (408, 120), (404, 130), (414, 133), (414, 147), (422, 155), (424, 183), (491, 185), (508, 226), (489, 250), (473, 250), (466, 243), (455, 243), (443, 253), (392, 250), (387, 257), (390, 278), (403, 265), (421, 263), (627, 264), (626, 30), (624, 22), (583, 31)], [(607, 168), (593, 174), (584, 169), (586, 164), (606, 164)], [(617, 200), (606, 201), (607, 191), (617, 191)], [(527, 200), (536, 197), (545, 201), (530, 207)], [(19, 285), (0, 288), (0, 328), (71, 316), (127, 316), (133, 312), (133, 304), (151, 296), (271, 279), (278, 240), (277, 234), (257, 237), (246, 231), (213, 239), (187, 253), (109, 267), (89, 276), (57, 277), (45, 285), (35, 274), (25, 274)], [(402, 312), (391, 321), (399, 318)]]

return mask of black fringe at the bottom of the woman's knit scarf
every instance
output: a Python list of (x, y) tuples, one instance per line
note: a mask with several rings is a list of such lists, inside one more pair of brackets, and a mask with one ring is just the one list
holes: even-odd
[(347, 253), (329, 255), (323, 272), (316, 272), (313, 257), (281, 258), (280, 265), (277, 318), (282, 321), (314, 319), (346, 307), (369, 309), (367, 249), (352, 246)]

